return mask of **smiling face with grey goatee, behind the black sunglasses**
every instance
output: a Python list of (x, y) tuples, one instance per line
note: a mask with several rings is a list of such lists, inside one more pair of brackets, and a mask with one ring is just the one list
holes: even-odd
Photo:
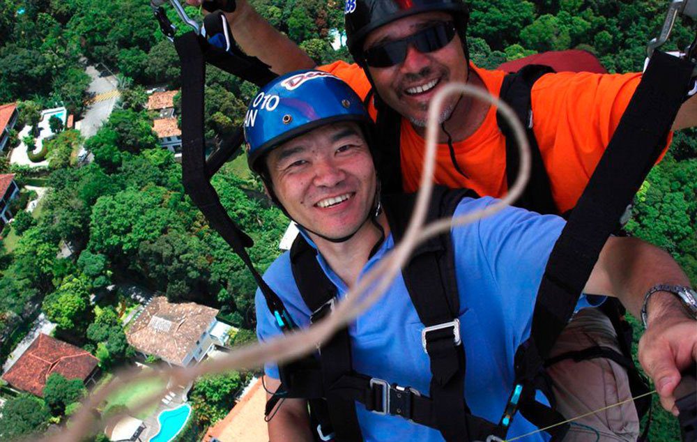
[[(443, 12), (405, 17), (369, 33), (363, 49), (400, 40), (434, 24), (449, 21), (452, 21), (452, 16)], [(436, 91), (447, 82), (466, 82), (468, 72), (465, 53), (457, 35), (445, 47), (434, 52), (422, 53), (411, 45), (403, 62), (388, 68), (368, 69), (381, 98), (418, 127), (426, 125), (429, 102)], [(439, 123), (450, 116), (457, 100), (457, 96), (446, 100)]]

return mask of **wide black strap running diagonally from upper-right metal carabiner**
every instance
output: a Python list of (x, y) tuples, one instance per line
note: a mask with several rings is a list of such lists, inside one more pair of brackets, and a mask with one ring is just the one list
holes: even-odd
[[(516, 352), (521, 413), (528, 417), (533, 379), (574, 313), (608, 236), (656, 162), (680, 105), (693, 63), (654, 52), (620, 125), (569, 218), (546, 266), (530, 339)], [(540, 333), (544, 330), (544, 333)], [(537, 425), (537, 422), (533, 422)]]

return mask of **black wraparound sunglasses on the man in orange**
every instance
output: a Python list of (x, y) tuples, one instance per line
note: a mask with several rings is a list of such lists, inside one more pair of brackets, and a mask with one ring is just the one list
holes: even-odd
[(366, 49), (363, 59), (373, 68), (389, 68), (404, 61), (409, 45), (424, 54), (434, 52), (450, 43), (456, 32), (453, 22), (440, 22), (411, 36)]

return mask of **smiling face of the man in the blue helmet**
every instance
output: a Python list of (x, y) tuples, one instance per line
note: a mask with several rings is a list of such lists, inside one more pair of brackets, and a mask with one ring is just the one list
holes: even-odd
[(373, 208), (376, 172), (356, 123), (332, 123), (293, 138), (270, 151), (266, 167), (291, 218), (327, 238), (353, 234)]

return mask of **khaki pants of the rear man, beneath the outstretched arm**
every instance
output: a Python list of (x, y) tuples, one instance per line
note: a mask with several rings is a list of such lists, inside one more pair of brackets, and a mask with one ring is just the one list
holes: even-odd
[[(550, 356), (597, 345), (620, 351), (617, 335), (608, 317), (595, 308), (586, 308), (576, 313), (562, 331)], [(562, 360), (549, 367), (547, 372), (553, 381), (557, 409), (566, 418), (581, 416), (631, 398), (627, 370), (605, 358), (578, 363)], [(634, 402), (574, 422), (576, 425), (572, 424), (565, 442), (636, 441), (639, 435)]]

